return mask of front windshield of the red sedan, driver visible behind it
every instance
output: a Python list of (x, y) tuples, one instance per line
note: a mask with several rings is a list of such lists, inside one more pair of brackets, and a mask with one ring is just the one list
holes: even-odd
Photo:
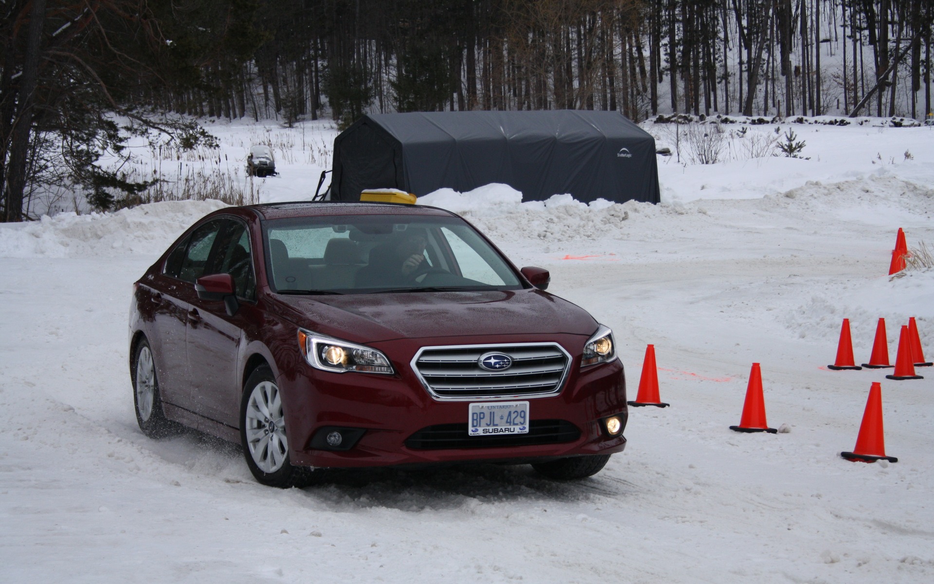
[(509, 264), (456, 217), (332, 215), (265, 221), (279, 293), (517, 290)]

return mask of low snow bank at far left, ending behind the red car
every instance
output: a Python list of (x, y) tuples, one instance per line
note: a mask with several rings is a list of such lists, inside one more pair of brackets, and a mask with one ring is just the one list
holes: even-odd
[(0, 228), (0, 257), (64, 258), (162, 253), (219, 201), (166, 201), (116, 213), (60, 213)]

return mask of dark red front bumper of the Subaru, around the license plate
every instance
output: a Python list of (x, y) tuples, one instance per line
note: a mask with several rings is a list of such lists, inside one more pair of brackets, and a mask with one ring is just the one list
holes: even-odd
[[(573, 355), (571, 370), (557, 395), (528, 400), (530, 419), (533, 424), (535, 420), (570, 422), (579, 431), (579, 434), (573, 433), (577, 437), (570, 441), (535, 444), (534, 440), (526, 440), (523, 444), (521, 436), (524, 434), (519, 434), (515, 442), (503, 440), (479, 448), (410, 448), (409, 445), (417, 445), (417, 441), (406, 445), (406, 440), (426, 428), (450, 424), (466, 426), (469, 402), (432, 399), (409, 366), (417, 349), (432, 343), (425, 342), (426, 339), (407, 339), (393, 341), (391, 350), (380, 347), (379, 343), (373, 344), (392, 361), (396, 373), (391, 376), (329, 373), (312, 368), (304, 360), (280, 372), (278, 385), (286, 406), (291, 463), (362, 467), (509, 462), (622, 451), (626, 438), (622, 433), (609, 436), (602, 424), (608, 416), (621, 415), (624, 423), (627, 417), (622, 363), (616, 360), (581, 371), (580, 354), (586, 339), (567, 335), (549, 340), (559, 342)], [(465, 340), (464, 344), (469, 342)], [(567, 429), (568, 424), (562, 427)], [(319, 431), (330, 428), (362, 429), (364, 433), (350, 449), (322, 449), (320, 436), (312, 444)]]

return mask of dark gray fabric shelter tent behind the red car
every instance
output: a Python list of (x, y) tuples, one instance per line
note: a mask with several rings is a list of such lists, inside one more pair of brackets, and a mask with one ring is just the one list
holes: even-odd
[(363, 116), (334, 139), (331, 198), (502, 182), (526, 201), (570, 192), (658, 203), (655, 139), (615, 111), (437, 111)]

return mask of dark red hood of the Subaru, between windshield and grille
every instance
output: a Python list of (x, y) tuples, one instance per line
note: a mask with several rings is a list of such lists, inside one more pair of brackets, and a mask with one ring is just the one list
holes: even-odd
[(290, 308), (291, 318), (300, 326), (358, 343), (445, 336), (592, 335), (597, 330), (597, 321), (580, 306), (535, 289), (280, 295), (277, 299)]

